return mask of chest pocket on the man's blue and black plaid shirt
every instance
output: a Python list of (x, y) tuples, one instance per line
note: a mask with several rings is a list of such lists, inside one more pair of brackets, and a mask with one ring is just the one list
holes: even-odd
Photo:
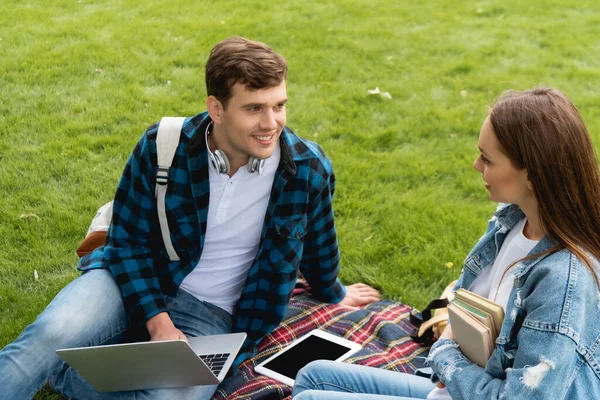
[(292, 219), (276, 218), (273, 220), (273, 228), (269, 238), (270, 263), (281, 272), (291, 272), (298, 267), (302, 258), (307, 232), (306, 216)]

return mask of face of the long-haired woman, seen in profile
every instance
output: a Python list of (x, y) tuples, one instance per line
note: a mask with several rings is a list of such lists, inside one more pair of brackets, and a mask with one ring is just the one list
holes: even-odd
[(481, 173), (492, 201), (517, 204), (523, 208), (524, 204), (535, 200), (527, 171), (515, 168), (501, 151), (489, 117), (481, 127), (478, 146), (481, 154), (473, 163), (473, 168)]

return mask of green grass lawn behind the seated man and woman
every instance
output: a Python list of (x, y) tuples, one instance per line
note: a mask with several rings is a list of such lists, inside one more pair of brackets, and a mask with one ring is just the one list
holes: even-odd
[(454, 3), (4, 0), (0, 347), (77, 276), (145, 127), (204, 109), (204, 63), (230, 35), (288, 60), (288, 125), (334, 162), (344, 282), (423, 307), (495, 208), (471, 163), (501, 92), (560, 88), (600, 144), (600, 4)]

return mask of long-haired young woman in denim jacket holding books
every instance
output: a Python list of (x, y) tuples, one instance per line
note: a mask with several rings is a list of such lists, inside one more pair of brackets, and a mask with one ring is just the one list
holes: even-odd
[(428, 357), (437, 387), (316, 362), (296, 378), (295, 400), (600, 399), (600, 178), (581, 116), (558, 90), (510, 92), (483, 123), (479, 150), (473, 166), (501, 204), (457, 288), (505, 308), (485, 368), (461, 353), (449, 326)]

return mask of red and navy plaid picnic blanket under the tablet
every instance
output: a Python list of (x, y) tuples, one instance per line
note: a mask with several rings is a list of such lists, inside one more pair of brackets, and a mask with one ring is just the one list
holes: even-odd
[(257, 374), (254, 367), (316, 328), (363, 346), (345, 362), (414, 373), (424, 366), (429, 347), (410, 338), (414, 329), (409, 321), (411, 311), (411, 307), (390, 300), (356, 311), (320, 303), (310, 296), (306, 281), (299, 279), (283, 322), (263, 338), (257, 354), (240, 365), (238, 374), (219, 386), (212, 400), (289, 400), (291, 387)]

